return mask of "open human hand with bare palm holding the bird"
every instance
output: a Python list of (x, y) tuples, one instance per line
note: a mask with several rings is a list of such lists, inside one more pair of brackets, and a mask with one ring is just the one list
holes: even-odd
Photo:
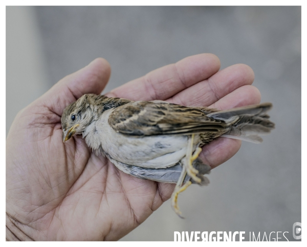
[[(219, 69), (215, 55), (199, 54), (106, 95), (220, 110), (260, 102), (249, 66)], [(124, 174), (81, 136), (62, 142), (64, 108), (85, 93), (99, 94), (110, 73), (98, 58), (17, 114), (6, 141), (7, 240), (118, 240), (169, 199), (173, 184)], [(218, 138), (203, 147), (201, 158), (214, 168), (239, 147), (238, 140)]]

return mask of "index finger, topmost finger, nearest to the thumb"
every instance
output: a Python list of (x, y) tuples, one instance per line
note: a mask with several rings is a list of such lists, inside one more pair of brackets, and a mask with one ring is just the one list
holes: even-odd
[(185, 88), (211, 77), (218, 69), (220, 60), (215, 55), (194, 55), (153, 70), (106, 95), (134, 101), (166, 100)]

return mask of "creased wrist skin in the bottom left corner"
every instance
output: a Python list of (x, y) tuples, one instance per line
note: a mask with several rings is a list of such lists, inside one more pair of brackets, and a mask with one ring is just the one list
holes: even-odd
[(6, 213), (6, 241), (33, 241), (18, 227), (20, 223)]

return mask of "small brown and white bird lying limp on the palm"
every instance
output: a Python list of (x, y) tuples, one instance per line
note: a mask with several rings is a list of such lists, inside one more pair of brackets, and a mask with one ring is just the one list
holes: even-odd
[(130, 101), (84, 94), (61, 117), (63, 142), (82, 134), (96, 155), (126, 174), (176, 183), (171, 206), (180, 216), (178, 194), (190, 184), (207, 185), (211, 167), (198, 157), (217, 137), (260, 143), (274, 129), (271, 103), (218, 111), (165, 101)]

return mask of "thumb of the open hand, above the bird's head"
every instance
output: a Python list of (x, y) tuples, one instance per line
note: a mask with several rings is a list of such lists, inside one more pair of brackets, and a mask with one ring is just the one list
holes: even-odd
[(64, 77), (40, 98), (40, 103), (57, 115), (62, 115), (65, 107), (85, 93), (99, 94), (111, 74), (109, 63), (97, 58), (89, 65)]

